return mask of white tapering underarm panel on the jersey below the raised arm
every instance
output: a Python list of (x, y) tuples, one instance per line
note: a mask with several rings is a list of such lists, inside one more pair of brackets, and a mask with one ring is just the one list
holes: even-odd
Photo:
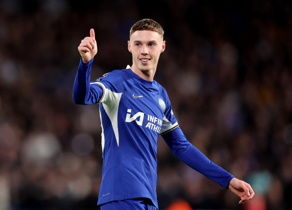
[[(114, 135), (116, 136), (117, 144), (119, 146), (119, 130), (118, 130), (118, 109), (122, 93), (114, 93), (109, 89), (105, 89), (105, 96), (103, 97), (102, 106), (109, 117)], [(101, 117), (100, 117), (101, 120)]]

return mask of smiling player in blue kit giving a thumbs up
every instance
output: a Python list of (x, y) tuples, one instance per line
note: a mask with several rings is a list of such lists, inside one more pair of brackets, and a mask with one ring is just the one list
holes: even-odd
[(162, 27), (151, 19), (130, 30), (128, 50), (133, 64), (90, 81), (97, 53), (94, 30), (78, 47), (81, 61), (73, 87), (76, 104), (99, 104), (102, 127), (101, 210), (158, 209), (157, 138), (173, 154), (207, 178), (238, 195), (240, 204), (254, 195), (251, 186), (211, 162), (183, 135), (166, 90), (155, 80), (160, 53), (165, 50)]

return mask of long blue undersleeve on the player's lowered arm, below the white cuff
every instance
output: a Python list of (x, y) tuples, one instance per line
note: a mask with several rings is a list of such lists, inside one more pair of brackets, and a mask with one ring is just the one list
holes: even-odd
[(183, 135), (180, 127), (161, 136), (178, 159), (224, 188), (227, 188), (230, 180), (234, 178), (194, 147)]

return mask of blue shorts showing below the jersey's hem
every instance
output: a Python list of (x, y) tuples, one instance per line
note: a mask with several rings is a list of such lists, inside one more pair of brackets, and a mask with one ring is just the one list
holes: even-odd
[(100, 210), (157, 210), (148, 198), (134, 198), (112, 201), (100, 206)]

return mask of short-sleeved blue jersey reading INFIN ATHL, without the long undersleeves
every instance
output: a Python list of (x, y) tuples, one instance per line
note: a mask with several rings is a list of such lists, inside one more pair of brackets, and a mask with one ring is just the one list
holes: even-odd
[(157, 206), (157, 138), (178, 126), (166, 90), (131, 69), (91, 82), (103, 89), (102, 183), (98, 204), (137, 197)]

